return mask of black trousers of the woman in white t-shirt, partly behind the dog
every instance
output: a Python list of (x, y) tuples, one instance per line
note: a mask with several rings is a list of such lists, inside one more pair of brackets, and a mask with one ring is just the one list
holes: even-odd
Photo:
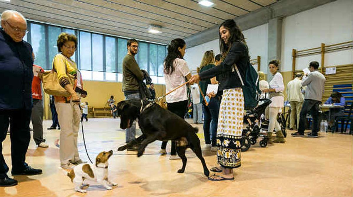
[[(170, 112), (173, 112), (174, 114), (177, 114), (179, 117), (184, 119), (186, 108), (187, 108), (187, 102), (188, 100), (179, 101), (175, 103), (167, 103), (167, 107)], [(162, 142), (161, 149), (166, 149), (167, 142), (168, 141)], [(175, 148), (175, 141), (172, 141), (172, 148), (170, 149), (170, 155), (177, 155), (177, 149)]]

